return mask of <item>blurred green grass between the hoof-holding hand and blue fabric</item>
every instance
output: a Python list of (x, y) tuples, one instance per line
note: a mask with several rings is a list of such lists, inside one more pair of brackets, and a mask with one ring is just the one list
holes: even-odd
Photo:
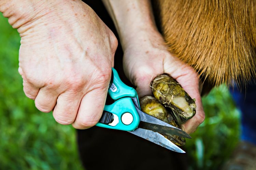
[(217, 169), (229, 158), (239, 141), (239, 111), (225, 86), (214, 88), (202, 98), (205, 121), (198, 127), (186, 149), (191, 169)]

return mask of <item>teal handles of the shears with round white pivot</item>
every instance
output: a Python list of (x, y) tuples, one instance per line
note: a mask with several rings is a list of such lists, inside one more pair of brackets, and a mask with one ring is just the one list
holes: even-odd
[(115, 102), (111, 105), (105, 105), (100, 122), (96, 126), (132, 131), (140, 123), (139, 113), (132, 102), (132, 98), (138, 99), (137, 92), (123, 83), (114, 68), (112, 68), (111, 79), (113, 82), (108, 94)]

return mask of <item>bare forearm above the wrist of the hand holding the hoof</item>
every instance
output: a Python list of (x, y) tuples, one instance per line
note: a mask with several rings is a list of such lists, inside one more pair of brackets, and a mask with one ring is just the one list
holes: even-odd
[(141, 41), (140, 37), (159, 34), (149, 0), (102, 1), (114, 21), (123, 49), (136, 40)]

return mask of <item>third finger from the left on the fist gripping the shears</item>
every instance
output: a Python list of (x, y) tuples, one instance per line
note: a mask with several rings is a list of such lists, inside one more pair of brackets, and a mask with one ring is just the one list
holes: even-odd
[(53, 117), (56, 122), (63, 125), (72, 124), (75, 120), (82, 97), (82, 93), (74, 93), (71, 91), (60, 94), (53, 110)]

